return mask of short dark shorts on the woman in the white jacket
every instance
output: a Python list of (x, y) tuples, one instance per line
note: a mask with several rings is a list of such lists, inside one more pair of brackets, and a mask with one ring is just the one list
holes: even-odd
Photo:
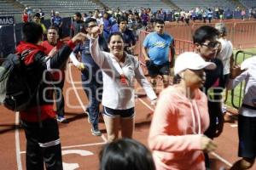
[(115, 109), (111, 109), (103, 106), (102, 114), (110, 117), (120, 116), (122, 118), (131, 118), (135, 116), (135, 111), (134, 111), (134, 107), (126, 110), (115, 110)]

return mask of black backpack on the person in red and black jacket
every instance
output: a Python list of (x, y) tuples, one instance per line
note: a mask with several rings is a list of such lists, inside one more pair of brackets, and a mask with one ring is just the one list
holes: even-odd
[(11, 111), (25, 111), (35, 94), (24, 66), (24, 57), (18, 54), (9, 54), (0, 66), (0, 104)]

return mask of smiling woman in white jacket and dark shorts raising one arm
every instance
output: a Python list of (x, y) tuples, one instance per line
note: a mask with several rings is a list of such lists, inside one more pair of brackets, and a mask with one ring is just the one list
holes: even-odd
[(139, 61), (124, 52), (122, 34), (114, 32), (108, 37), (110, 53), (98, 46), (99, 27), (94, 27), (90, 38), (90, 54), (102, 69), (103, 119), (107, 128), (108, 141), (118, 139), (119, 126), (122, 137), (132, 138), (134, 128), (135, 79), (144, 88), (148, 98), (155, 102), (156, 95), (144, 77)]

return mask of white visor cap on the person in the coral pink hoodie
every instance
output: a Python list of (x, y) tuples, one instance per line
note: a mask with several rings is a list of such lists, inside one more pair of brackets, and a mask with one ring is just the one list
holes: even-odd
[(207, 62), (201, 58), (199, 54), (193, 52), (185, 52), (177, 56), (174, 65), (174, 74), (185, 71), (186, 69), (191, 70), (214, 70), (216, 65), (212, 62)]

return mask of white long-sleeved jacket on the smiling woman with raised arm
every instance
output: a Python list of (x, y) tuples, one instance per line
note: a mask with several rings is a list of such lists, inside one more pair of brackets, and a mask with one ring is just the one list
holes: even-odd
[[(139, 61), (134, 56), (125, 54), (125, 62), (123, 65), (119, 65), (113, 54), (100, 50), (98, 38), (90, 38), (90, 54), (102, 69), (102, 105), (116, 110), (126, 110), (134, 107), (135, 79), (143, 87), (149, 99), (157, 98), (147, 78), (143, 75)], [(120, 75), (122, 74), (126, 77), (126, 85), (120, 81)]]

